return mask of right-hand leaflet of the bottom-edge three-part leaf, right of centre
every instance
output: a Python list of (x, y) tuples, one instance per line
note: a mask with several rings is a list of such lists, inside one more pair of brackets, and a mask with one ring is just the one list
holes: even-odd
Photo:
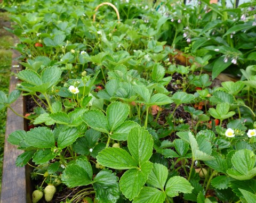
[(194, 188), (184, 177), (174, 176), (171, 177), (165, 185), (165, 193), (169, 197), (175, 197), (182, 193), (191, 193)]

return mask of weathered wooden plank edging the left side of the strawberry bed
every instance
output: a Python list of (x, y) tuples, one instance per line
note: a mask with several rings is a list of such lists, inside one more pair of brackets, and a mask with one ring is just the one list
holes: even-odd
[[(12, 67), (11, 72), (17, 73), (21, 70), (16, 58), (20, 54), (17, 50), (13, 50), (12, 55)], [(9, 93), (13, 91), (19, 83), (19, 80), (14, 75), (10, 77)], [(11, 107), (18, 113), (23, 115), (24, 112), (24, 99), (20, 96), (19, 99), (11, 104)], [(9, 134), (15, 130), (25, 129), (25, 122), (22, 117), (15, 115), (10, 109), (7, 109), (6, 120), (6, 132), (4, 143), (4, 160), (3, 160), (3, 175), (2, 175), (2, 191), (1, 191), (1, 203), (19, 202), (29, 203), (31, 202), (30, 187), (30, 170), (26, 167), (17, 167), (15, 161), (18, 155), (23, 151), (18, 150), (17, 146), (11, 145), (7, 142)]]

